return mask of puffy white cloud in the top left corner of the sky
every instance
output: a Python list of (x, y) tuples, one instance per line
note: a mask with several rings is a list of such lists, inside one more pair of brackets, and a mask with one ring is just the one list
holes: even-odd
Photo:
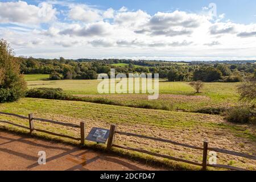
[(40, 24), (56, 19), (56, 9), (42, 2), (38, 6), (27, 2), (0, 2), (0, 23)]

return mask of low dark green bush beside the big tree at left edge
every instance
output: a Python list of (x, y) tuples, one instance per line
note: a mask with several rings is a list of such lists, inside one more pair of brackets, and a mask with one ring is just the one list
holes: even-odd
[(69, 98), (68, 94), (63, 92), (60, 88), (34, 88), (27, 91), (26, 97), (32, 98), (48, 98), (57, 100), (66, 100)]

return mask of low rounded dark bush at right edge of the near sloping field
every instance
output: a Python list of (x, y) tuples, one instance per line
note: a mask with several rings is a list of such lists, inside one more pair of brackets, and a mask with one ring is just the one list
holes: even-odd
[(249, 107), (233, 107), (228, 109), (225, 113), (225, 119), (233, 123), (248, 123), (255, 121), (255, 110)]

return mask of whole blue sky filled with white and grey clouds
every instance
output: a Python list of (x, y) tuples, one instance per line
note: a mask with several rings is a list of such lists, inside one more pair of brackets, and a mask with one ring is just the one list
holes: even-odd
[(256, 1), (0, 0), (0, 38), (19, 56), (256, 59)]

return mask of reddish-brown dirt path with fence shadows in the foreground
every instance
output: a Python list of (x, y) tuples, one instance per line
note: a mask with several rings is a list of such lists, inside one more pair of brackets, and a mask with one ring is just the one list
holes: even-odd
[[(39, 151), (46, 152), (46, 164), (39, 165)], [(79, 147), (48, 142), (0, 131), (1, 170), (160, 170)]]

